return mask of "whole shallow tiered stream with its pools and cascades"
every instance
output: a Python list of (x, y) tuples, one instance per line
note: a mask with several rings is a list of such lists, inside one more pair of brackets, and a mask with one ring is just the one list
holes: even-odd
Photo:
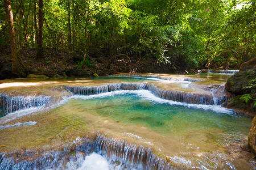
[[(217, 95), (229, 76), (2, 81), (0, 169), (254, 169), (246, 148), (252, 118), (221, 107)], [(14, 150), (38, 156), (17, 163)]]

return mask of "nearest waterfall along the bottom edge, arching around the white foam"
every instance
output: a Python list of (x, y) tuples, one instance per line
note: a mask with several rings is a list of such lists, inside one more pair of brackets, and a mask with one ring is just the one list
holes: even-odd
[(115, 167), (118, 169), (173, 169), (165, 159), (153, 154), (151, 148), (131, 145), (123, 139), (98, 133), (94, 139), (82, 139), (81, 142), (67, 145), (62, 151), (43, 154), (34, 150), (2, 152), (0, 169), (77, 169), (85, 155), (92, 152), (103, 155), (110, 163), (118, 162), (118, 167)]

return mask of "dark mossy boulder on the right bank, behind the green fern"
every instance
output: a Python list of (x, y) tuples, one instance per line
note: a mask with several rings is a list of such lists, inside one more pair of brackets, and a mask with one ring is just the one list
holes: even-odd
[(234, 95), (249, 94), (251, 90), (243, 87), (248, 86), (249, 81), (255, 78), (256, 69), (243, 69), (228, 79), (225, 84), (226, 91)]

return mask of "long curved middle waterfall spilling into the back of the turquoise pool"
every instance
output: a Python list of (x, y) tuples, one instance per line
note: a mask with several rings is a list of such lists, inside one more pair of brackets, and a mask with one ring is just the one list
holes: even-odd
[[(115, 83), (92, 87), (64, 87), (67, 91), (72, 92), (74, 95), (95, 95), (116, 90), (148, 90), (156, 97), (161, 99), (179, 101), (189, 104), (221, 105), (221, 103), (226, 100), (226, 97), (220, 97), (217, 99), (215, 97), (213, 99), (213, 96), (193, 94), (191, 92), (161, 90), (153, 84), (148, 83)], [(214, 100), (217, 100), (217, 102), (214, 103)]]

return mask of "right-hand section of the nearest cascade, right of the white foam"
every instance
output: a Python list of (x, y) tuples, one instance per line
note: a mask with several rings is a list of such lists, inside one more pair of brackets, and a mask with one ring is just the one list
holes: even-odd
[(129, 167), (142, 167), (142, 169), (171, 169), (166, 160), (158, 158), (151, 148), (131, 145), (123, 140), (109, 138), (106, 135), (97, 135), (96, 151), (106, 158), (129, 165)]

